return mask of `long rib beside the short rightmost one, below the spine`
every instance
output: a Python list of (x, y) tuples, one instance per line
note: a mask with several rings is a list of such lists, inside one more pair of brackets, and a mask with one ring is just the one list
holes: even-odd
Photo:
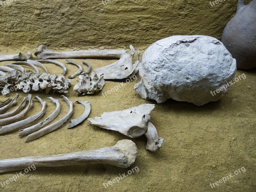
[(58, 129), (61, 125), (63, 125), (66, 121), (68, 121), (68, 119), (70, 118), (70, 116), (72, 115), (73, 113), (73, 102), (72, 101), (69, 101), (67, 97), (65, 97), (64, 95), (61, 95), (60, 96), (63, 100), (65, 100), (68, 105), (69, 105), (69, 111), (68, 111), (68, 114), (66, 116), (64, 116), (63, 118), (61, 118), (59, 121), (57, 121), (56, 123), (54, 124), (51, 124), (47, 127), (44, 127), (43, 129), (40, 129), (39, 131), (37, 132), (34, 132), (30, 135), (28, 135), (27, 137), (27, 140), (26, 142), (30, 142), (32, 140), (35, 140), (35, 139), (38, 139), (50, 132), (53, 132), (55, 131), (56, 129)]

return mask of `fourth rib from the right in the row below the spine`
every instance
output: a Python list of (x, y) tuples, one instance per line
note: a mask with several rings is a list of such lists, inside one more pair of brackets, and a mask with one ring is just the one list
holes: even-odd
[(45, 108), (46, 108), (47, 103), (44, 102), (38, 96), (36, 96), (35, 99), (39, 100), (39, 102), (41, 103), (41, 105), (42, 105), (41, 111), (38, 114), (30, 116), (30, 117), (28, 117), (28, 118), (26, 118), (24, 120), (21, 120), (21, 121), (18, 121), (16, 123), (12, 123), (12, 124), (8, 124), (8, 125), (0, 127), (0, 134), (12, 132), (15, 129), (19, 129), (19, 128), (21, 128), (23, 126), (26, 126), (26, 125), (36, 121), (37, 119), (41, 118), (44, 115), (44, 113), (45, 113)]

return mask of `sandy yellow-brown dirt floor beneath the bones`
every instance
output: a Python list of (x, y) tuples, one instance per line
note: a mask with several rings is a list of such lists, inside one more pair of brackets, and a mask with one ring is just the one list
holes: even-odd
[[(36, 48), (7, 50), (2, 47), (0, 51), (1, 54), (14, 54), (20, 51), (34, 52)], [(145, 47), (140, 49), (142, 55)], [(65, 60), (59, 61), (65, 63), (68, 68), (66, 77), (77, 70)], [(82, 60), (75, 61), (81, 63)], [(97, 68), (111, 64), (115, 60), (86, 59), (86, 61), (93, 68)], [(5, 66), (8, 63), (10, 62), (1, 62), (0, 65)], [(45, 66), (52, 74), (59, 75), (62, 71), (62, 68), (53, 64), (45, 64)], [(100, 116), (103, 112), (123, 110), (144, 103), (155, 104), (156, 107), (150, 114), (151, 122), (156, 126), (158, 135), (164, 138), (164, 144), (159, 151), (153, 153), (145, 149), (145, 136), (131, 139), (138, 147), (139, 156), (130, 168), (123, 169), (103, 164), (59, 168), (36, 167), (35, 171), (26, 173), (16, 182), (13, 181), (4, 187), (0, 185), (0, 191), (255, 191), (256, 69), (238, 70), (236, 76), (243, 73), (246, 78), (234, 84), (221, 100), (200, 107), (174, 100), (157, 104), (153, 100), (141, 99), (133, 89), (134, 84), (140, 81), (139, 75), (137, 80), (131, 83), (124, 81), (123, 87), (105, 97), (102, 92), (107, 92), (122, 81), (106, 81), (102, 92), (77, 97), (73, 91), (76, 79), (73, 79), (66, 96), (71, 101), (77, 99), (89, 101), (92, 107), (90, 118)], [(20, 104), (26, 94), (20, 91), (18, 93), (20, 94), (18, 104)], [(14, 95), (15, 92), (5, 97), (1, 95), (0, 101)], [(49, 95), (32, 93), (33, 97), (37, 95), (47, 101), (48, 105), (46, 114), (34, 124), (42, 121), (55, 110), (55, 105), (47, 99)], [(60, 95), (50, 96), (60, 99)], [(34, 106), (28, 116), (41, 110), (40, 103), (35, 99), (33, 102)], [(61, 112), (55, 121), (68, 112), (65, 101), (60, 99), (60, 103)], [(71, 118), (77, 118), (83, 111), (84, 107), (75, 103)], [(0, 159), (92, 150), (113, 146), (118, 140), (129, 139), (119, 132), (92, 126), (88, 120), (74, 129), (68, 130), (68, 125), (69, 121), (58, 130), (29, 143), (25, 143), (26, 138), (19, 138), (18, 131), (0, 135)], [(134, 172), (131, 173), (132, 168)], [(24, 173), (24, 170), (20, 171)], [(104, 187), (103, 183), (124, 173), (128, 176), (119, 183)], [(0, 182), (9, 180), (15, 174), (16, 172), (1, 173)], [(230, 174), (235, 176), (229, 178)], [(215, 184), (216, 181), (227, 176), (229, 179), (225, 183)], [(214, 186), (211, 187), (210, 183), (214, 183)]]

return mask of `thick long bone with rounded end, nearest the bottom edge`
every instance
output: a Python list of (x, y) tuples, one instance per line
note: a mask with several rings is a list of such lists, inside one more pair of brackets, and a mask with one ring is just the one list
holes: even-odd
[(68, 154), (30, 156), (0, 160), (0, 173), (35, 167), (61, 167), (86, 163), (110, 164), (128, 168), (138, 157), (138, 148), (131, 140), (120, 140), (113, 147), (99, 148)]

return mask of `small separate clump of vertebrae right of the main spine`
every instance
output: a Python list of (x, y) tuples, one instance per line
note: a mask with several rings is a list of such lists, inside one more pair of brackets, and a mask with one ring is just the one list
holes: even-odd
[(98, 76), (95, 72), (92, 72), (91, 76), (87, 74), (79, 75), (78, 79), (74, 86), (74, 91), (77, 95), (93, 94), (102, 90), (105, 84), (104, 77)]

